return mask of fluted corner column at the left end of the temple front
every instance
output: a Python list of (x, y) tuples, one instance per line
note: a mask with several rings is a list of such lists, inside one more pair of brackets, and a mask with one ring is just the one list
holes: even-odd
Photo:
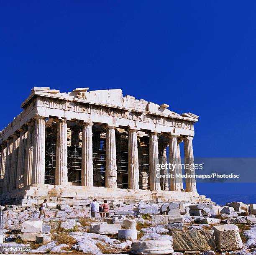
[(32, 184), (44, 184), (45, 171), (45, 120), (36, 116), (33, 142)]

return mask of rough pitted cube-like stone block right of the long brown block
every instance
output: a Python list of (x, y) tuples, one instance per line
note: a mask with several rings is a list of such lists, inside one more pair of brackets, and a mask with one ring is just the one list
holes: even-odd
[(242, 248), (242, 240), (239, 235), (239, 229), (236, 225), (219, 225), (213, 227), (213, 230), (216, 247), (221, 252), (239, 250)]

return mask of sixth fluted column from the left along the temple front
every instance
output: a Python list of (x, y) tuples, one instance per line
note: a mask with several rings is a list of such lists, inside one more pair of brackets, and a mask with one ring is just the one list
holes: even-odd
[(158, 161), (158, 140), (157, 133), (149, 134), (149, 189), (161, 190), (160, 178), (156, 177), (156, 165)]

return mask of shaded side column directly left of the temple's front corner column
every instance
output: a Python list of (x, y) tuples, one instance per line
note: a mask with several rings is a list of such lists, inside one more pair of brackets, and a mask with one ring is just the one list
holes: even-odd
[(26, 145), (26, 157), (25, 157), (25, 167), (24, 167), (24, 186), (28, 186), (32, 183), (32, 166), (33, 166), (33, 148), (34, 148), (34, 126), (35, 122), (27, 123), (27, 145)]

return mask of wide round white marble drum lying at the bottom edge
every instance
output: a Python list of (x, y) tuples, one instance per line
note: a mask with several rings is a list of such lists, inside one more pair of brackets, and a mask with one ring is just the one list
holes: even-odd
[(169, 254), (173, 252), (169, 240), (135, 241), (131, 245), (132, 254)]

